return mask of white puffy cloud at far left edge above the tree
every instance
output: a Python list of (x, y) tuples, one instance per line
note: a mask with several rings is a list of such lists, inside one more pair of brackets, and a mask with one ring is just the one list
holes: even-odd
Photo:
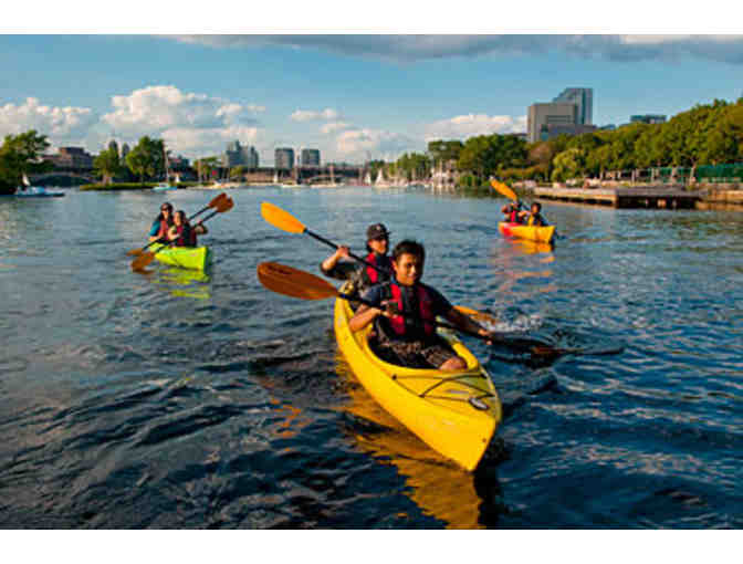
[(76, 142), (87, 135), (98, 116), (87, 107), (53, 107), (29, 97), (23, 104), (0, 106), (0, 134), (18, 135), (36, 129), (57, 145)]

